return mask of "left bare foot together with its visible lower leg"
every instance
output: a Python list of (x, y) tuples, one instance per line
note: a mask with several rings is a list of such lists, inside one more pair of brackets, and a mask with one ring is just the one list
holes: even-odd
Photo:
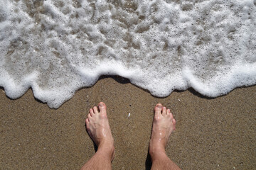
[(90, 108), (85, 123), (88, 134), (98, 148), (81, 170), (111, 169), (111, 162), (114, 158), (114, 140), (107, 119), (105, 103), (100, 102), (97, 107)]

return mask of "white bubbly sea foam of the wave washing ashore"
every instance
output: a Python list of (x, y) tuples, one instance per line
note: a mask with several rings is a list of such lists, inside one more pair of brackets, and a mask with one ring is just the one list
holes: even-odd
[(154, 96), (256, 84), (255, 0), (0, 1), (0, 86), (50, 108), (100, 75)]

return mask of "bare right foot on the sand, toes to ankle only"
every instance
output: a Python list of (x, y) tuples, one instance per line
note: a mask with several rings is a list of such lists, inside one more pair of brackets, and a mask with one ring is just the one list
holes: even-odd
[(166, 109), (160, 103), (154, 108), (154, 120), (149, 142), (149, 154), (151, 158), (165, 154), (171, 132), (175, 130), (176, 120), (170, 109)]

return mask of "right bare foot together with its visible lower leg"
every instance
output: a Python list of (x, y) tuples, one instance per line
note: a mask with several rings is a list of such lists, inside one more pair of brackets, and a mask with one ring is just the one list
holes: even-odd
[(176, 121), (171, 111), (166, 110), (161, 104), (157, 104), (154, 108), (154, 121), (149, 142), (151, 169), (179, 169), (165, 152), (171, 132), (175, 130), (175, 124)]

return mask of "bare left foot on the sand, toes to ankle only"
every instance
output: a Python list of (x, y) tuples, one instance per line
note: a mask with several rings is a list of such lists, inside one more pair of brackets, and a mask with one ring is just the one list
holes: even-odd
[(110, 154), (113, 159), (114, 140), (107, 119), (105, 103), (100, 102), (97, 107), (90, 108), (90, 113), (87, 115), (85, 123), (88, 134), (98, 147), (97, 150)]

